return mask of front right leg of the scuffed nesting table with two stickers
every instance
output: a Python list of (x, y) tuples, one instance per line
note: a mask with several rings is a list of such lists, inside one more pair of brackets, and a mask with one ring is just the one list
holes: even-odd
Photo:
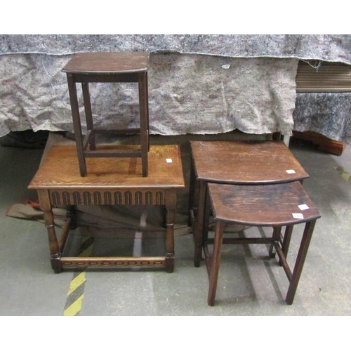
[(305, 263), (305, 258), (307, 256), (308, 247), (310, 246), (315, 224), (316, 220), (312, 220), (310, 222), (307, 222), (305, 225), (305, 230), (303, 231), (303, 237), (301, 239), (300, 249), (298, 250), (295, 267), (293, 268), (293, 274), (291, 276), (288, 293), (286, 294), (286, 303), (288, 305), (292, 305), (296, 289), (298, 289), (298, 281), (300, 280), (301, 272), (303, 271), (303, 264)]

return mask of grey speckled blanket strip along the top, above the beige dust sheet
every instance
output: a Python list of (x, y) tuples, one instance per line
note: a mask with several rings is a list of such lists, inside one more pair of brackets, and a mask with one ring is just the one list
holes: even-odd
[(233, 58), (312, 58), (351, 64), (350, 50), (349, 34), (23, 34), (0, 37), (0, 54), (176, 51)]

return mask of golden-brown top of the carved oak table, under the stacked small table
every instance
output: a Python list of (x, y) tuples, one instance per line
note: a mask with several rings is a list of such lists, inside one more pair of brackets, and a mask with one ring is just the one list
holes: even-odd
[[(110, 147), (112, 146), (105, 146), (105, 148)], [(126, 145), (123, 146), (124, 149), (125, 147)], [(55, 145), (42, 161), (29, 184), (29, 189), (185, 187), (178, 145), (151, 145), (148, 162), (149, 176), (143, 177), (141, 159), (138, 157), (88, 158), (86, 159), (88, 176), (81, 177), (76, 147)]]

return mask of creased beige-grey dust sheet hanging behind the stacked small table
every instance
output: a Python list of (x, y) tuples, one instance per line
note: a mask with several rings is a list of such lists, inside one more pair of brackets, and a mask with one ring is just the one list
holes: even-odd
[[(71, 55), (0, 56), (0, 136), (9, 131), (73, 131), (62, 67)], [(150, 56), (150, 133), (289, 135), (298, 60), (155, 53)], [(77, 84), (84, 117), (81, 86)], [(137, 126), (136, 84), (90, 84), (95, 126)], [(84, 118), (82, 118), (84, 120)]]

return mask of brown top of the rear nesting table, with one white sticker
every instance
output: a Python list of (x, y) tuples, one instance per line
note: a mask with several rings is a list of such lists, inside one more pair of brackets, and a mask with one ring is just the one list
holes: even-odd
[(197, 179), (211, 183), (274, 184), (308, 178), (282, 141), (191, 141)]

